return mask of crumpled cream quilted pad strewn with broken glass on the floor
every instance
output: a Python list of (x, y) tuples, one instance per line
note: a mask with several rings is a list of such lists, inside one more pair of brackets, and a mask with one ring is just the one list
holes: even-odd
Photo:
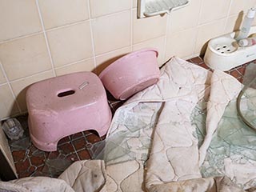
[(102, 160), (75, 162), (54, 180), (69, 190), (54, 191), (256, 191), (256, 134), (234, 107), (241, 89), (229, 74), (172, 58), (116, 111)]

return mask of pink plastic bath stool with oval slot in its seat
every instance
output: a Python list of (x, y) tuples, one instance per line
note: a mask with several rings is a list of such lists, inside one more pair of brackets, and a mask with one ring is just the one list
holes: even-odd
[(58, 141), (83, 130), (106, 134), (111, 111), (106, 91), (91, 72), (66, 74), (32, 84), (26, 92), (30, 138), (40, 150), (57, 150)]

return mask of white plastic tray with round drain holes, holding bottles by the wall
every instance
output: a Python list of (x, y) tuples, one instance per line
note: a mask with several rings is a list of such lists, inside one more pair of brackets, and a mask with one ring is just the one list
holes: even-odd
[[(254, 36), (256, 26), (250, 28), (249, 36)], [(230, 70), (256, 59), (256, 45), (241, 47), (234, 39), (235, 32), (213, 38), (208, 43), (204, 62), (213, 70)]]

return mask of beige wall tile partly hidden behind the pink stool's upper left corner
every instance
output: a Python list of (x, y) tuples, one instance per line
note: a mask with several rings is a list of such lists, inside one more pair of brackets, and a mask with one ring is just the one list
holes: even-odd
[(18, 105), (20, 106), (22, 112), (26, 111), (26, 90), (27, 87), (30, 86), (34, 82), (42, 81), (46, 78), (54, 77), (53, 71), (46, 71), (42, 74), (36, 74), (28, 78), (23, 78), (18, 81), (11, 82), (10, 85), (14, 90), (14, 94), (16, 95)]

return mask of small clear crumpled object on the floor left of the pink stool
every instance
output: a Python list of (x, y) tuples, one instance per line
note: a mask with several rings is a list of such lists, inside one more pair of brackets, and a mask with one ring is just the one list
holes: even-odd
[(2, 129), (11, 140), (21, 138), (24, 130), (16, 118), (9, 118), (2, 124)]

